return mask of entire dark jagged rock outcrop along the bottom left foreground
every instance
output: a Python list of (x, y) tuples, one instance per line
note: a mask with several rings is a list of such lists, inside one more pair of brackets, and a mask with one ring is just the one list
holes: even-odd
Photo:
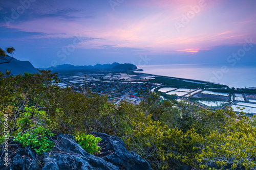
[(128, 152), (119, 137), (98, 132), (91, 134), (102, 139), (100, 143), (102, 149), (98, 155), (91, 155), (84, 151), (73, 136), (58, 134), (53, 137), (55, 147), (51, 152), (38, 156), (30, 147), (16, 148), (16, 153), (9, 157), (9, 166), (6, 167), (1, 160), (0, 169), (151, 169), (140, 156), (134, 152)]

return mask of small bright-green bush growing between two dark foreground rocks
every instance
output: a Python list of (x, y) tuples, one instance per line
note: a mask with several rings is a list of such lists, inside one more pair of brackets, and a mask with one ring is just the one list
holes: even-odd
[(78, 144), (84, 149), (84, 151), (89, 154), (99, 153), (100, 147), (98, 147), (98, 142), (101, 141), (101, 138), (95, 137), (93, 135), (81, 134), (75, 136)]

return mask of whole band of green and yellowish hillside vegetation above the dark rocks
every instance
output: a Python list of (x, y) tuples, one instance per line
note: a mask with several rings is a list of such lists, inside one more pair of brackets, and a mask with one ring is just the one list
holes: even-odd
[(57, 74), (47, 70), (17, 76), (1, 72), (0, 80), (5, 82), (0, 86), (1, 143), (8, 138), (9, 145), (19, 142), (42, 154), (54, 147), (54, 134), (66, 133), (94, 153), (100, 139), (87, 134), (97, 131), (121, 137), (153, 169), (256, 167), (255, 116), (162, 101), (155, 93), (139, 105), (116, 106), (107, 96), (59, 88)]

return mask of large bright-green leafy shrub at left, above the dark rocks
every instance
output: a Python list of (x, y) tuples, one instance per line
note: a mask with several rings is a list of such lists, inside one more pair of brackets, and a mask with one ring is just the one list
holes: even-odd
[(35, 148), (37, 154), (42, 154), (54, 147), (54, 142), (49, 140), (49, 137), (54, 134), (46, 126), (50, 121), (45, 111), (25, 107), (24, 112), (20, 113), (14, 122), (11, 122), (15, 128), (10, 131), (10, 134), (14, 136), (13, 141), (18, 141), (23, 147), (30, 145), (31, 148)]

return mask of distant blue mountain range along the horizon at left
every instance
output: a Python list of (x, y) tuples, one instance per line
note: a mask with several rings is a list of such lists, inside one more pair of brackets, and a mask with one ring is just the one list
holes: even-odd
[[(19, 73), (29, 72), (34, 73), (38, 70), (29, 62), (29, 61), (20, 61), (13, 57), (7, 56), (6, 59), (8, 59), (9, 63), (3, 63), (0, 64), (0, 71), (5, 72), (6, 70), (11, 70), (11, 73), (13, 75), (18, 75)], [(38, 68), (38, 69), (47, 69), (55, 71), (61, 71), (61, 70), (82, 70), (82, 69), (115, 69), (115, 70), (135, 70), (137, 69), (137, 66), (134, 64), (124, 63), (119, 64), (117, 62), (114, 62), (112, 64), (96, 64), (94, 66), (92, 65), (80, 65), (75, 66), (71, 64), (62, 64), (62, 65), (56, 65), (55, 67), (50, 68)]]

